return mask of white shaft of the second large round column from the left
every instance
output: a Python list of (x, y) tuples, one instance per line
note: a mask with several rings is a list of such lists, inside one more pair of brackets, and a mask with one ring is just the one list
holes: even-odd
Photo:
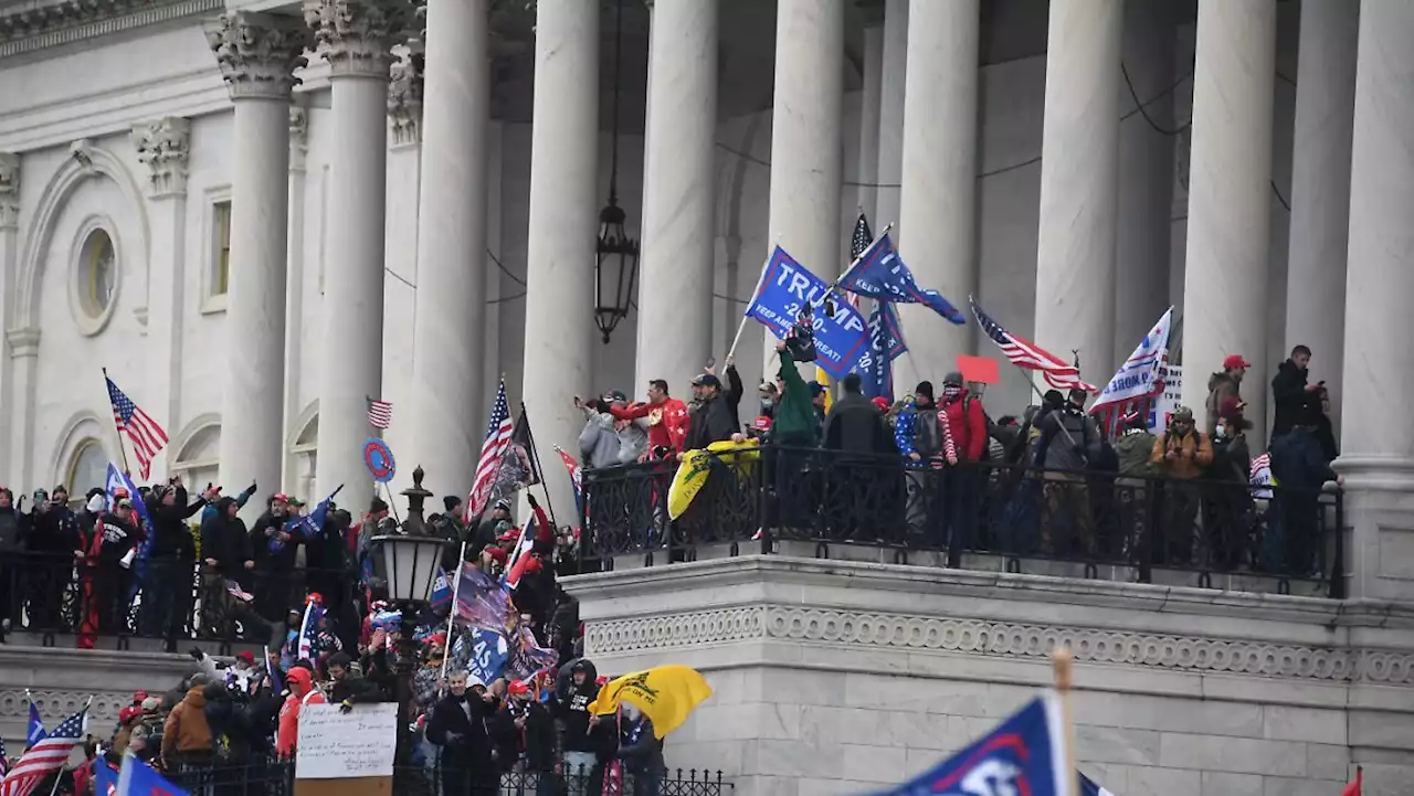
[(363, 510), (373, 495), (363, 465), (363, 441), (373, 434), (368, 399), (383, 389), (387, 79), (335, 72), (329, 83), (334, 150), (315, 478), (320, 496), (342, 484), (339, 502)]

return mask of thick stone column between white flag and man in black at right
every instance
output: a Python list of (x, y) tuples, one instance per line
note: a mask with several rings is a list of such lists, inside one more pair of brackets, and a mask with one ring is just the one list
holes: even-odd
[(1203, 423), (1208, 375), (1253, 363), (1241, 396), (1254, 450), (1267, 437), (1267, 250), (1275, 0), (1198, 4), (1184, 273), (1184, 403)]

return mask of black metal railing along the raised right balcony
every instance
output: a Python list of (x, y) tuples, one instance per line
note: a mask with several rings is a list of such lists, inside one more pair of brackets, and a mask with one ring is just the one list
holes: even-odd
[(916, 468), (896, 457), (769, 447), (713, 455), (699, 469), (700, 491), (676, 520), (677, 462), (587, 471), (585, 571), (612, 568), (618, 556), (653, 564), (693, 560), (704, 546), (772, 553), (803, 542), (817, 557), (855, 544), (892, 549), (898, 563), (930, 551), (967, 567), (969, 554), (988, 554), (1008, 571), (1051, 560), (1077, 564), (1085, 577), (1117, 567), (1151, 583), (1155, 570), (1172, 570), (1212, 585), (1215, 574), (1243, 574), (1277, 591), (1311, 581), (1343, 594), (1333, 574), (1339, 491), (988, 464)]

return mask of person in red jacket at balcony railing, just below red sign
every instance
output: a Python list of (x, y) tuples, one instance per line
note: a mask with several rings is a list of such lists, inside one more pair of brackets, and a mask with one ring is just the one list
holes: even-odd
[(978, 467), (987, 452), (987, 413), (981, 400), (967, 393), (963, 375), (943, 377), (943, 402), (937, 416), (947, 423), (943, 434), (949, 467), (943, 471), (945, 522), (947, 523), (947, 566), (962, 564), (962, 554), (976, 543), (978, 495), (987, 471)]

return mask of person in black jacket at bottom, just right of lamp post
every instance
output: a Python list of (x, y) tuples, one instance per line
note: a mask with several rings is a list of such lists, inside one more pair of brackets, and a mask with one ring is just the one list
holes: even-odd
[(440, 768), (447, 796), (496, 796), (501, 776), (496, 751), (486, 731), (492, 717), (489, 696), (468, 693), (467, 673), (447, 677), (451, 693), (433, 706), (427, 739), (443, 748)]

